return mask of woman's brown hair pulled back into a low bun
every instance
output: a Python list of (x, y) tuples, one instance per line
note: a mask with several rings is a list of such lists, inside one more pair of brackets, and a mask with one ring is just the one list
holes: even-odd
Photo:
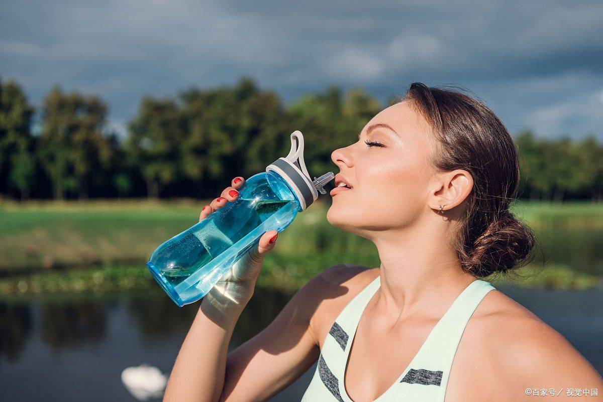
[(476, 277), (506, 273), (529, 262), (534, 234), (509, 211), (519, 187), (513, 138), (479, 100), (413, 82), (409, 100), (431, 125), (437, 147), (429, 161), (441, 172), (464, 169), (473, 178), (466, 214), (453, 237), (463, 270)]

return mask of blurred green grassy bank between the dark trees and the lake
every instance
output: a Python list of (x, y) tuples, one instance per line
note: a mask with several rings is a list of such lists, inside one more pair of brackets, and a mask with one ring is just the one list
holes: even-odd
[[(322, 201), (322, 200), (319, 200)], [(164, 240), (197, 223), (203, 201), (0, 204), (0, 294), (104, 292), (157, 286), (145, 268)], [(260, 285), (297, 289), (330, 265), (376, 267), (373, 244), (326, 221), (317, 202), (279, 235)], [(547, 262), (494, 283), (581, 289), (601, 286), (603, 206), (525, 203), (513, 211), (545, 247)], [(553, 252), (554, 250), (554, 252)]]

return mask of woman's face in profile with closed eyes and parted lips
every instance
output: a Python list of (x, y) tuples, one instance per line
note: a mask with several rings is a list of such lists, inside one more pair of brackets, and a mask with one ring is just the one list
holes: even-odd
[[(367, 146), (365, 141), (383, 146)], [(411, 225), (429, 208), (428, 187), (435, 171), (427, 157), (434, 148), (428, 123), (408, 101), (380, 111), (358, 141), (331, 154), (352, 190), (333, 195), (329, 223), (368, 238), (368, 231)]]

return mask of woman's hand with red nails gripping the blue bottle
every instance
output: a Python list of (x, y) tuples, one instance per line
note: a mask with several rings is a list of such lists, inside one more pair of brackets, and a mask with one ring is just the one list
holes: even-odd
[[(239, 192), (236, 189), (244, 183), (245, 179), (240, 176), (233, 179), (232, 185), (224, 188), (220, 197), (203, 207), (199, 220), (201, 221), (212, 212), (223, 208), (227, 202), (238, 199)], [(221, 319), (224, 315), (230, 314), (233, 309), (240, 311), (247, 305), (253, 295), (264, 256), (274, 249), (278, 234), (277, 230), (265, 232), (259, 241), (256, 241), (251, 249), (226, 271), (201, 301), (201, 308), (206, 311), (206, 314)]]

